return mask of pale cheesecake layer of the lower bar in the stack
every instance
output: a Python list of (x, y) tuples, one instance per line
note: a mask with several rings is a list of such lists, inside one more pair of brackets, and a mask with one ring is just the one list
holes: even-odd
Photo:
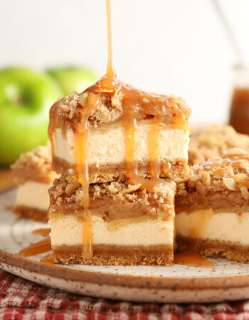
[[(83, 222), (74, 215), (51, 218), (52, 247), (83, 244)], [(107, 222), (92, 215), (93, 245), (173, 245), (174, 220), (150, 218), (120, 218)]]

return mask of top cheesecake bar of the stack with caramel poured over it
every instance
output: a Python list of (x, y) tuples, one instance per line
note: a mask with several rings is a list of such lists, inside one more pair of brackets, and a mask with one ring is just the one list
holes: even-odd
[(159, 176), (184, 176), (190, 113), (181, 98), (121, 82), (107, 90), (97, 82), (51, 108), (53, 169), (71, 182), (85, 166), (89, 183), (125, 181), (128, 171), (148, 178), (149, 166), (158, 161)]

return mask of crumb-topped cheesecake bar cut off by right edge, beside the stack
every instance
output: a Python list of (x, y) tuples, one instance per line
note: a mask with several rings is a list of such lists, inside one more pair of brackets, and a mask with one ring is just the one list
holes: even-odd
[(191, 167), (178, 185), (176, 239), (208, 257), (249, 262), (249, 155)]

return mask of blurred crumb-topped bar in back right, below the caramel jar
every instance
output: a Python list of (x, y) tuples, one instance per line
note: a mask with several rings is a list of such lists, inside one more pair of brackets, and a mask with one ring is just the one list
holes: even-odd
[(191, 127), (189, 165), (201, 164), (226, 154), (248, 152), (248, 135), (235, 132), (231, 126)]

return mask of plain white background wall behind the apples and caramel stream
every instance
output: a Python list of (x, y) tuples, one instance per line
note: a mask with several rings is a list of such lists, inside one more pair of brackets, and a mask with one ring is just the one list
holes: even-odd
[[(211, 0), (111, 3), (118, 77), (184, 97), (194, 123), (226, 123), (236, 59)], [(220, 4), (246, 59), (249, 1)], [(105, 73), (105, 0), (0, 0), (0, 35), (0, 67), (90, 65)]]

